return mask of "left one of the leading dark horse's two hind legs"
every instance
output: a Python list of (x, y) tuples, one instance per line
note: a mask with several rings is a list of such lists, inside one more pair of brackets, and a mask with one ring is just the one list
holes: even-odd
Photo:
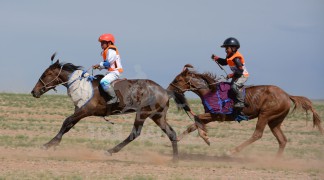
[[(137, 117), (137, 115), (136, 115), (136, 117)], [(136, 118), (135, 122), (134, 122), (134, 125), (133, 125), (132, 132), (130, 133), (130, 135), (123, 142), (119, 143), (114, 148), (109, 149), (107, 151), (109, 153), (109, 155), (112, 155), (112, 153), (117, 153), (124, 146), (126, 146), (128, 143), (130, 143), (134, 139), (136, 139), (141, 134), (141, 130), (142, 130), (145, 119), (146, 119), (146, 117), (145, 118), (139, 118), (139, 119)]]

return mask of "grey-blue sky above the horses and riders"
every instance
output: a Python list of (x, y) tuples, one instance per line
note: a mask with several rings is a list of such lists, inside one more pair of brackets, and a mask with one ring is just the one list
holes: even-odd
[(29, 93), (54, 52), (84, 69), (98, 64), (98, 37), (112, 33), (124, 78), (166, 88), (188, 63), (224, 75), (210, 56), (224, 58), (220, 45), (235, 37), (246, 85), (324, 99), (323, 9), (322, 0), (1, 0), (0, 92)]

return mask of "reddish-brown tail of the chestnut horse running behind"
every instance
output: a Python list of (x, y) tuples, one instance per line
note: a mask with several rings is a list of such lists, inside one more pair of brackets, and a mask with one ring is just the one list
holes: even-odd
[(324, 130), (321, 126), (321, 119), (317, 112), (315, 111), (312, 102), (303, 96), (289, 96), (289, 98), (293, 101), (295, 104), (295, 107), (292, 112), (294, 112), (296, 109), (303, 109), (306, 111), (312, 111), (313, 113), (313, 127), (317, 127), (318, 130), (321, 132), (321, 134), (324, 134)]

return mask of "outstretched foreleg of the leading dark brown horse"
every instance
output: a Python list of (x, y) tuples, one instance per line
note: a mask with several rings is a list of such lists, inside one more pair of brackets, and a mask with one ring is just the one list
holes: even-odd
[(48, 149), (50, 147), (55, 147), (58, 146), (62, 140), (62, 136), (67, 133), (77, 122), (80, 121), (80, 119), (86, 117), (87, 114), (82, 111), (77, 111), (73, 115), (69, 116), (66, 118), (62, 124), (62, 127), (58, 134), (50, 140), (48, 143), (44, 144), (43, 147), (45, 149)]

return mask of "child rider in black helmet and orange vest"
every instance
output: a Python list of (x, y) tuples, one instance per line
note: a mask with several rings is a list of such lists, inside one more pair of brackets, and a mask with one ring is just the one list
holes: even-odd
[(221, 47), (225, 48), (227, 54), (226, 59), (220, 58), (215, 54), (212, 54), (211, 58), (222, 66), (228, 65), (233, 71), (233, 73), (227, 75), (227, 79), (232, 78), (231, 89), (236, 95), (234, 108), (241, 111), (245, 105), (243, 93), (240, 88), (247, 81), (249, 73), (246, 70), (243, 55), (238, 52), (240, 42), (236, 38), (230, 37), (224, 41)]

